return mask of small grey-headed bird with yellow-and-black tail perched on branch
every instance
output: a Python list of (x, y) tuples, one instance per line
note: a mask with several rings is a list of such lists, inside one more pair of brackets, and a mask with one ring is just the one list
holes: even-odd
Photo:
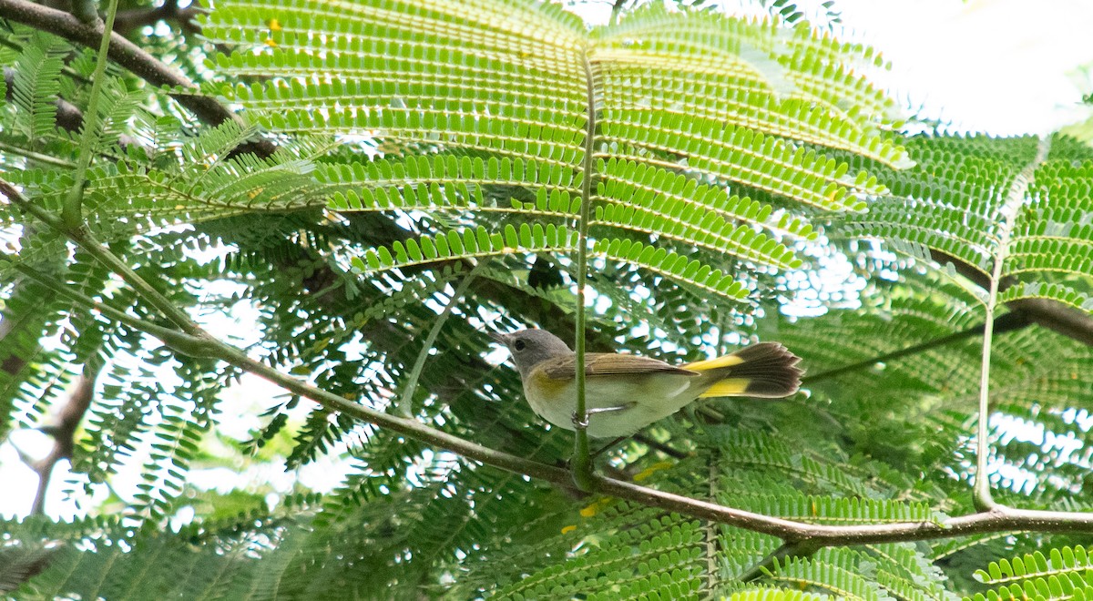
[[(545, 330), (491, 334), (508, 347), (528, 404), (555, 426), (576, 429), (577, 355)], [(588, 435), (628, 436), (709, 397), (780, 398), (797, 392), (800, 357), (777, 342), (683, 365), (616, 353), (585, 353)]]

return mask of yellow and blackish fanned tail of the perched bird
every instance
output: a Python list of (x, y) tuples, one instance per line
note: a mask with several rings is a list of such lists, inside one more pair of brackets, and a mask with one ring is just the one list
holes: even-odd
[(788, 397), (801, 386), (797, 367), (800, 357), (777, 342), (761, 342), (731, 355), (682, 365), (684, 369), (708, 375), (713, 384), (698, 398), (708, 397)]

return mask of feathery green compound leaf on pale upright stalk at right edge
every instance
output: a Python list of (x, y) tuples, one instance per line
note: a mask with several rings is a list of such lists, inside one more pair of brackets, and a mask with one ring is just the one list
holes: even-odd
[[(984, 276), (990, 274), (999, 245), (1006, 244), (1002, 302), (1049, 298), (1089, 311), (1093, 304), (1085, 291), (1093, 262), (1090, 226), (1081, 214), (1088, 207), (1093, 155), (1089, 146), (1055, 135), (1047, 141), (1046, 160), (1033, 164), (1037, 143), (1032, 137), (912, 139), (907, 152), (916, 166), (891, 174), (880, 169), (880, 181), (892, 196), (846, 223), (867, 235), (897, 240), (896, 250), (914, 252), (913, 246), (920, 245), (941, 251)], [(1014, 229), (1002, 239), (1002, 202), (1029, 166), (1034, 172)]]

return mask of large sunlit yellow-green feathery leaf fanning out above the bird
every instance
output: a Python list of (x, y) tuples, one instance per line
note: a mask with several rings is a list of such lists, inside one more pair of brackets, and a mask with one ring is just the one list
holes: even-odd
[[(400, 11), (418, 9), (383, 4), (334, 19), (321, 3), (237, 2), (218, 7), (204, 33), (238, 47), (216, 58), (221, 72), (277, 75), (218, 89), (257, 122), (376, 140), (384, 158), (322, 170), (330, 209), (442, 211), (479, 233), (465, 236), (469, 244), (450, 235), (455, 244), (397, 241), (371, 251), (369, 269), (572, 251), (572, 244), (544, 246), (539, 232), (550, 238), (556, 221), (572, 219), (592, 179), (595, 252), (742, 299), (752, 290), (726, 259), (800, 267), (780, 238), (814, 238), (808, 213), (730, 197), (704, 179), (826, 211), (860, 210), (861, 195), (882, 188), (865, 172), (850, 176), (824, 148), (907, 164), (878, 128), (888, 101), (844, 72), (841, 61), (871, 58), (862, 48), (806, 31), (781, 46), (768, 24), (713, 13), (691, 14), (680, 27), (682, 15), (653, 8), (589, 34), (549, 4), (504, 10), (514, 5), (539, 35), (528, 36), (519, 21), (496, 22), (502, 9), (489, 2), (443, 2), (413, 19)], [(479, 30), (490, 35), (463, 35)], [(823, 59), (802, 61), (800, 51)], [(830, 85), (818, 86), (821, 80)], [(875, 106), (853, 115), (836, 108), (850, 97)], [(415, 156), (412, 145), (436, 154)], [(487, 243), (482, 220), (496, 223), (498, 213), (520, 221), (520, 244), (513, 234)], [(635, 233), (653, 244), (632, 246)], [(662, 247), (668, 240), (700, 252), (683, 259)]]

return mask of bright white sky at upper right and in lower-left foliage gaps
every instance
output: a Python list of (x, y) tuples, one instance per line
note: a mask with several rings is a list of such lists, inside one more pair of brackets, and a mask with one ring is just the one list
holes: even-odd
[[(956, 129), (1045, 133), (1090, 115), (1078, 103), (1083, 91), (1093, 92), (1093, 78), (1077, 72), (1093, 62), (1090, 0), (836, 0), (835, 8), (846, 30), (842, 38), (870, 44), (892, 62), (891, 71), (873, 74), (874, 81), (897, 98), (924, 107), (926, 116), (948, 120)], [(251, 424), (254, 420), (244, 417), (274, 402), (275, 389), (257, 385), (250, 381), (246, 393), (233, 394), (237, 399), (227, 413), (239, 412), (239, 424)], [(225, 423), (235, 420), (227, 417)], [(48, 448), (45, 437), (34, 432), (16, 432), (12, 440), (32, 453)], [(330, 471), (321, 463), (315, 470)], [(59, 466), (55, 472), (46, 506), (54, 517), (71, 518), (78, 512), (74, 500), (62, 493), (66, 468)], [(218, 486), (218, 481), (237, 478), (208, 475), (195, 474), (195, 480)], [(291, 479), (283, 476), (254, 474), (278, 487), (291, 485)], [(249, 478), (242, 475), (244, 481)], [(37, 480), (10, 443), (0, 446), (0, 516), (25, 515)]]

